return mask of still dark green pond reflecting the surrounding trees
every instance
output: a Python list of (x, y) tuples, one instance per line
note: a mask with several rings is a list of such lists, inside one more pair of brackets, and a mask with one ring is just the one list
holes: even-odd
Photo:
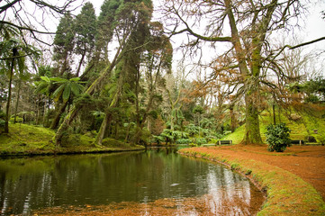
[(178, 211), (191, 205), (192, 215), (200, 214), (195, 203), (212, 213), (251, 215), (264, 201), (246, 177), (219, 164), (180, 156), (176, 148), (0, 160), (1, 215), (159, 200), (175, 202)]

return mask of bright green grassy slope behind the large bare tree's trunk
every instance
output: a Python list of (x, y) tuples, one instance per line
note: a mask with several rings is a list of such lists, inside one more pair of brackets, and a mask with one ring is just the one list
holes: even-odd
[[(289, 120), (284, 114), (281, 114), (280, 117), (276, 117), (276, 122), (285, 122), (286, 125), (290, 128), (290, 138), (291, 139), (305, 139), (306, 136), (313, 136), (318, 141), (322, 137), (325, 137), (325, 118), (323, 117), (312, 117), (309, 115), (302, 115), (300, 120), (293, 121)], [(266, 141), (266, 126), (273, 123), (273, 115), (270, 112), (262, 112), (259, 117), (259, 126), (262, 140)], [(314, 130), (318, 130), (318, 133), (315, 134)], [(232, 140), (234, 144), (239, 144), (240, 141), (244, 138), (245, 135), (245, 124), (237, 128), (233, 133), (230, 133), (223, 137), (224, 140)]]

